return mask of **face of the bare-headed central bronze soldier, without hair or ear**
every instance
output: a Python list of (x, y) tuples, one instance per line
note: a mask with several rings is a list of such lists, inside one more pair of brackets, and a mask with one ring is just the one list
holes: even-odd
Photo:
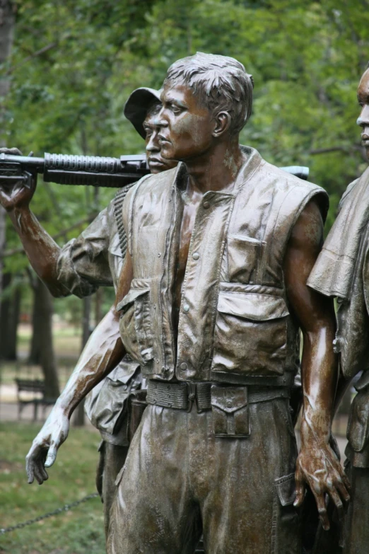
[(190, 161), (206, 154), (213, 144), (212, 112), (184, 84), (167, 84), (161, 94), (158, 114), (163, 158)]

